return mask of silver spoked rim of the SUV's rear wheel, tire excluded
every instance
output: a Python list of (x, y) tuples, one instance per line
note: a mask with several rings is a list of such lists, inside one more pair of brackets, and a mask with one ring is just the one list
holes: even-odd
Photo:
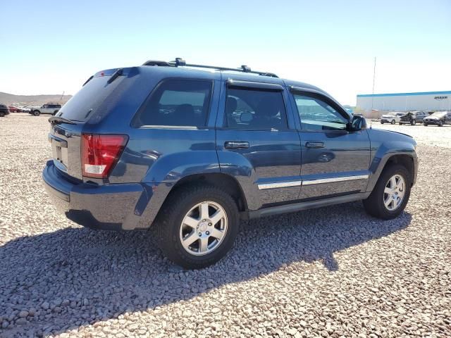
[(196, 204), (180, 225), (180, 242), (188, 253), (204, 256), (218, 249), (228, 227), (224, 208), (213, 201)]

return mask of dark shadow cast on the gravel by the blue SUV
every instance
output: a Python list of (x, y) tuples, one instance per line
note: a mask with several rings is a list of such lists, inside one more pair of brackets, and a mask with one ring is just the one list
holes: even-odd
[(233, 251), (194, 271), (175, 269), (148, 232), (69, 227), (21, 237), (0, 246), (0, 323), (6, 327), (0, 337), (64, 332), (191, 299), (294, 262), (322, 261), (339, 270), (333, 253), (402, 230), (411, 219), (403, 213), (377, 220), (361, 204), (342, 204), (243, 222)]

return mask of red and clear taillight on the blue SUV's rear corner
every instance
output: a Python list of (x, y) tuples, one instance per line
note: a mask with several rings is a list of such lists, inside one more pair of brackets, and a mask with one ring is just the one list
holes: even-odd
[(82, 175), (108, 177), (127, 141), (127, 135), (82, 134)]

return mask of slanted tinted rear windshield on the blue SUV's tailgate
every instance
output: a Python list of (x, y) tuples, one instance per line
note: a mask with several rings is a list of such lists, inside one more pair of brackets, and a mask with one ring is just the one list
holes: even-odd
[(87, 82), (80, 91), (75, 94), (60, 110), (58, 116), (68, 118), (72, 121), (85, 122), (92, 113), (105, 101), (106, 96), (111, 94), (118, 86), (123, 77), (107, 84), (109, 76), (94, 77)]

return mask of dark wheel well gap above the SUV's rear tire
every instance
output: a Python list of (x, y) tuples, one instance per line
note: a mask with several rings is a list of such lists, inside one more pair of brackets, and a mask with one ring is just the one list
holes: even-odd
[(192, 184), (209, 184), (214, 187), (218, 187), (223, 190), (235, 200), (239, 211), (247, 210), (247, 202), (245, 194), (242, 192), (240, 184), (235, 180), (235, 178), (230, 175), (221, 173), (210, 173), (210, 174), (196, 174), (183, 177), (179, 180), (173, 189), (171, 189), (171, 194), (174, 194), (181, 187), (188, 187)]

